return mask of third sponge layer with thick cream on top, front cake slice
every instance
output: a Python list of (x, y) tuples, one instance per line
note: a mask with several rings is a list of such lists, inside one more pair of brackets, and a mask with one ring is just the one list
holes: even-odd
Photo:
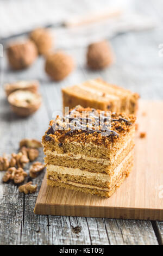
[(131, 163), (133, 163), (133, 151), (131, 151), (128, 156), (118, 164), (114, 170), (114, 174), (87, 172), (86, 170), (81, 170), (79, 168), (67, 168), (47, 164), (47, 178), (62, 180), (64, 182), (71, 181), (79, 184), (110, 188), (114, 186), (118, 177), (126, 171)]

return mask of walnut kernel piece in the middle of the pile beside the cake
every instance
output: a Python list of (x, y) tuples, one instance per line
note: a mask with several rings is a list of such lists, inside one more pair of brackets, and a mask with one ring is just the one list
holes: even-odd
[(23, 168), (24, 166), (26, 166), (26, 163), (28, 162), (28, 156), (26, 154), (23, 154), (22, 152), (18, 154), (11, 154), (10, 167), (17, 166)]

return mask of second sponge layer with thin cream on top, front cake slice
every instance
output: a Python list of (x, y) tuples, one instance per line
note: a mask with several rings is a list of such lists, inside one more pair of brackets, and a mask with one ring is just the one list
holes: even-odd
[(79, 168), (87, 170), (88, 172), (99, 173), (114, 173), (114, 169), (134, 148), (134, 141), (129, 141), (126, 147), (117, 151), (112, 161), (105, 159), (98, 159), (97, 157), (89, 157), (84, 154), (58, 154), (57, 151), (46, 150), (45, 163), (53, 164), (55, 166), (64, 166), (71, 168)]

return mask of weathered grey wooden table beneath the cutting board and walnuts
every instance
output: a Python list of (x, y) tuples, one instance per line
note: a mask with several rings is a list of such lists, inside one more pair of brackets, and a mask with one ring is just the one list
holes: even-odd
[[(139, 2), (139, 3), (138, 3)], [(161, 1), (135, 1), (135, 7), (146, 14), (161, 16)], [(146, 2), (146, 1), (145, 1)], [(116, 64), (101, 72), (85, 67), (85, 48), (68, 52), (76, 59), (76, 70), (66, 80), (49, 81), (43, 71), (42, 57), (29, 69), (14, 72), (8, 68), (5, 56), (0, 58), (0, 155), (13, 153), (25, 137), (41, 139), (49, 120), (61, 110), (61, 87), (101, 76), (140, 93), (143, 99), (163, 100), (163, 57), (159, 57), (162, 28), (127, 33), (111, 40), (116, 53)], [(40, 81), (42, 107), (29, 118), (19, 118), (10, 111), (3, 92), (3, 84), (16, 80)], [(42, 161), (43, 154), (39, 160)], [(27, 167), (28, 169), (28, 167)], [(163, 243), (163, 223), (157, 221), (115, 220), (108, 218), (60, 217), (34, 215), (33, 209), (44, 173), (34, 184), (34, 194), (18, 193), (12, 183), (3, 184), (0, 172), (0, 244), (2, 245), (158, 245)], [(76, 227), (80, 227), (79, 229)]]

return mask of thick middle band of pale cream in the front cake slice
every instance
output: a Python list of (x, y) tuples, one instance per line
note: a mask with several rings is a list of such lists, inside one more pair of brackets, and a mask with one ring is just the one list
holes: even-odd
[(96, 179), (102, 182), (111, 182), (112, 179), (116, 178), (118, 174), (121, 173), (121, 169), (124, 164), (129, 160), (129, 158), (133, 155), (133, 150), (123, 159), (123, 161), (115, 168), (114, 174), (103, 174), (103, 173), (91, 173), (87, 170), (81, 170), (79, 168), (67, 168), (64, 166), (55, 166), (54, 164), (47, 164), (48, 174), (50, 173), (59, 173), (59, 174), (68, 174), (75, 176), (85, 176), (88, 179)]

